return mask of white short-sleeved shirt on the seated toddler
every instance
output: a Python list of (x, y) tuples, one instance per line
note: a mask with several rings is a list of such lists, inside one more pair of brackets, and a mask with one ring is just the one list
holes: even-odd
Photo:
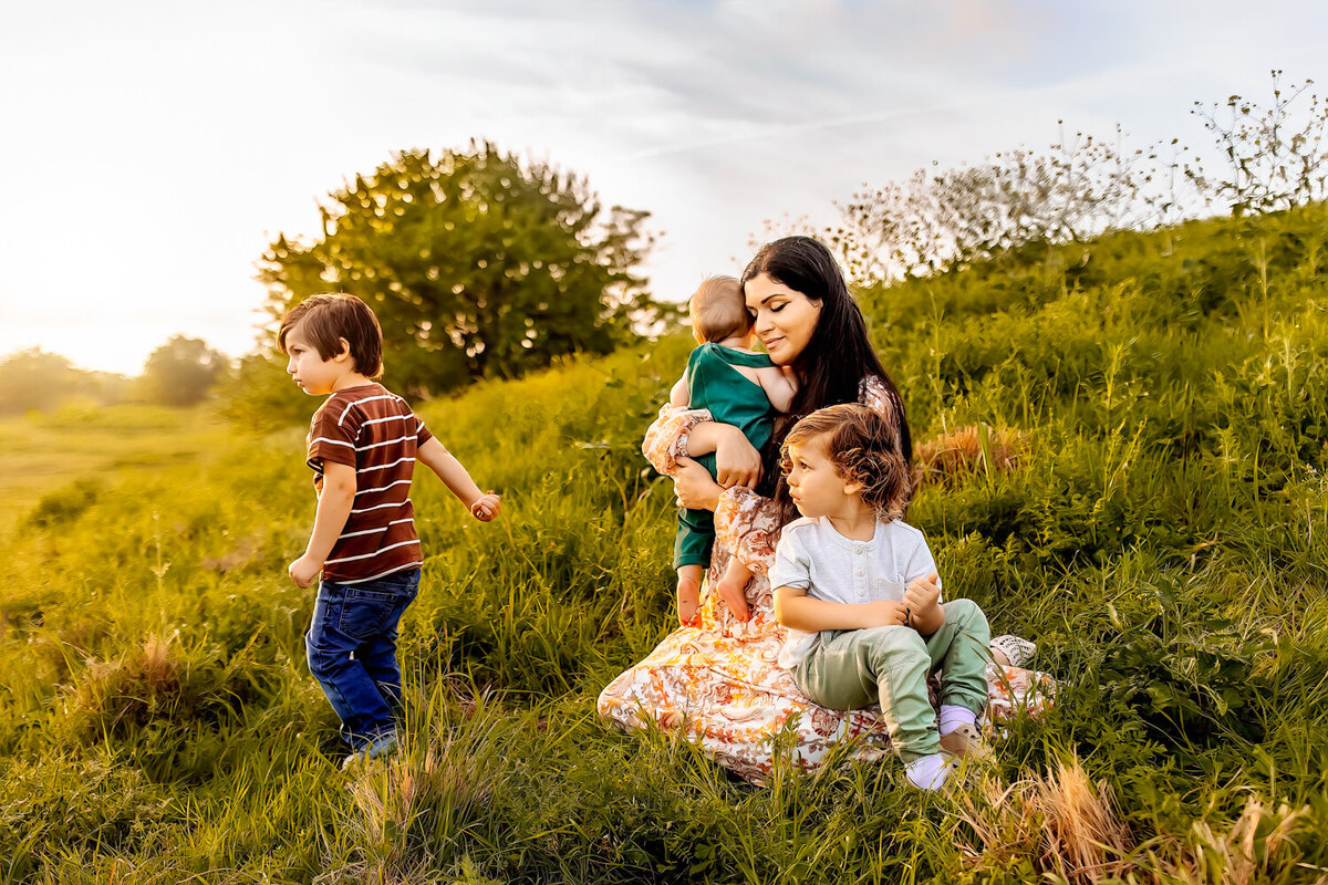
[[(829, 602), (903, 600), (904, 589), (936, 571), (920, 531), (903, 520), (876, 523), (870, 541), (841, 535), (825, 516), (802, 517), (784, 527), (770, 567), (770, 586), (806, 589)], [(940, 581), (936, 581), (938, 586)], [(793, 669), (811, 650), (815, 633), (789, 630), (780, 666)]]

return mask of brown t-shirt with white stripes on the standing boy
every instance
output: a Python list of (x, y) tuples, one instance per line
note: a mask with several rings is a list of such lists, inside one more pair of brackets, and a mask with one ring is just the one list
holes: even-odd
[(355, 503), (323, 564), (323, 580), (360, 584), (424, 563), (410, 478), (433, 435), (406, 401), (380, 383), (337, 390), (309, 423), (309, 467), (323, 494), (323, 464), (355, 467)]

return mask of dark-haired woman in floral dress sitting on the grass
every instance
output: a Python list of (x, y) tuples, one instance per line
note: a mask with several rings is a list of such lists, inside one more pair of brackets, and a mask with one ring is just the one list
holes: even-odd
[[(757, 337), (770, 358), (791, 366), (799, 381), (765, 458), (741, 431), (712, 422), (708, 413), (669, 406), (647, 431), (643, 451), (656, 470), (673, 476), (681, 507), (714, 511), (706, 586), (714, 586), (729, 557), (737, 556), (754, 573), (746, 588), (750, 616), (738, 620), (718, 593), (703, 590), (700, 624), (679, 628), (614, 679), (599, 695), (599, 711), (624, 727), (649, 720), (681, 727), (720, 764), (761, 780), (773, 767), (773, 738), (785, 730), (793, 732), (795, 760), (805, 768), (819, 766), (849, 736), (865, 738), (855, 758), (879, 758), (888, 748), (876, 709), (819, 707), (776, 663), (785, 633), (774, 620), (766, 571), (780, 528), (797, 516), (776, 468), (780, 444), (798, 418), (842, 402), (861, 402), (880, 414), (891, 429), (890, 446), (906, 462), (912, 441), (899, 391), (825, 245), (805, 236), (769, 243), (741, 281)], [(709, 452), (716, 455), (718, 482), (688, 458)], [(1012, 683), (1016, 697), (1024, 697), (1035, 682), (1040, 683), (1036, 674), (1015, 667), (988, 670), (991, 698), (1007, 711)]]

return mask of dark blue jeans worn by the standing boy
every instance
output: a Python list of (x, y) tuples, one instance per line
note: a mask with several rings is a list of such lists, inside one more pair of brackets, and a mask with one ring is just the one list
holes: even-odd
[(304, 647), (309, 673), (341, 718), (341, 736), (353, 751), (396, 728), (397, 624), (418, 589), (417, 568), (363, 584), (319, 584)]

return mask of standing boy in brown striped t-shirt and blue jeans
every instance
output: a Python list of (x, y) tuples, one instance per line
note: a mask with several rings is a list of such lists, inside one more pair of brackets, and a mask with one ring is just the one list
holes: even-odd
[(313, 531), (288, 571), (301, 588), (323, 576), (304, 644), (351, 746), (345, 768), (397, 747), (397, 622), (424, 561), (410, 503), (416, 459), (481, 521), (498, 515), (499, 499), (481, 494), (406, 402), (373, 381), (382, 374), (382, 332), (364, 301), (315, 295), (282, 317), (276, 342), (304, 393), (332, 394), (308, 437), (319, 498)]

